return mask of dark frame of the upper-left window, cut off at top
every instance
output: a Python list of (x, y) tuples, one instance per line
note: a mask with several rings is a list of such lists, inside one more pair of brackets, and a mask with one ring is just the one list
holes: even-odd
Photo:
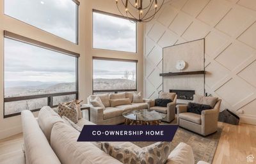
[(12, 17), (12, 16), (6, 14), (6, 13), (5, 13), (5, 8), (4, 8), (4, 2), (5, 2), (5, 1), (8, 1), (8, 0), (4, 0), (4, 1), (3, 1), (3, 14), (6, 15), (7, 17), (10, 17), (10, 18), (12, 18), (12, 19), (18, 20), (19, 22), (22, 22), (22, 23), (24, 23), (24, 24), (27, 24), (28, 26), (31, 26), (31, 27), (35, 27), (36, 29), (39, 29), (39, 30), (41, 30), (41, 31), (44, 31), (45, 33), (48, 33), (48, 34), (52, 34), (53, 36), (56, 36), (56, 37), (61, 38), (61, 39), (63, 39), (63, 40), (69, 41), (70, 43), (79, 45), (79, 5), (80, 5), (80, 2), (79, 2), (78, 0), (70, 0), (70, 1), (73, 1), (74, 3), (76, 3), (76, 42), (67, 40), (67, 39), (62, 38), (61, 36), (58, 36), (58, 35), (56, 35), (56, 34), (53, 34), (53, 33), (49, 32), (49, 31), (45, 31), (44, 29), (40, 29), (40, 27), (33, 26), (32, 24), (29, 24), (29, 23), (27, 23), (27, 22), (24, 22), (24, 21), (22, 21), (22, 20), (19, 20), (19, 19), (15, 18), (15, 17)]

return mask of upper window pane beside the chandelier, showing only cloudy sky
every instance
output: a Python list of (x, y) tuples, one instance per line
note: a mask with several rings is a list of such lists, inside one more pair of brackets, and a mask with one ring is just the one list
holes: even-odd
[(137, 52), (137, 24), (93, 10), (93, 48)]

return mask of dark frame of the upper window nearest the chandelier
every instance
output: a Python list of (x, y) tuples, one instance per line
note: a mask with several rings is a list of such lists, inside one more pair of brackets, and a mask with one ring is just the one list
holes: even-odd
[[(93, 13), (101, 13), (101, 14), (104, 14), (104, 15), (108, 15), (108, 16), (111, 16), (111, 17), (117, 17), (117, 18), (120, 18), (120, 19), (128, 19), (128, 20), (131, 20), (131, 21), (134, 21), (135, 24), (136, 24), (136, 50), (135, 52), (130, 52), (130, 51), (125, 51), (125, 50), (111, 50), (111, 49), (107, 49), (107, 48), (95, 48), (93, 47)], [(118, 14), (115, 14), (115, 13), (108, 13), (106, 11), (101, 11), (101, 10), (96, 10), (96, 9), (93, 9), (92, 10), (92, 48), (95, 49), (95, 50), (109, 50), (109, 51), (117, 51), (117, 52), (126, 52), (126, 53), (134, 53), (134, 54), (137, 54), (138, 53), (138, 20), (136, 19), (132, 19), (131, 17), (124, 17), (122, 15), (118, 15)]]

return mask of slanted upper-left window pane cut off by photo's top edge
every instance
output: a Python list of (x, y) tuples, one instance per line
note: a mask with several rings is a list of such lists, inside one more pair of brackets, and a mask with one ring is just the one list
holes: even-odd
[(4, 14), (77, 43), (78, 1), (5, 0)]

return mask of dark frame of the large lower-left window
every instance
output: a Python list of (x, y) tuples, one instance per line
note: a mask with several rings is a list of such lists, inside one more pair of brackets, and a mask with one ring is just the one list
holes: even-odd
[[(28, 45), (33, 45), (33, 46), (36, 46), (36, 47), (40, 47), (40, 48), (45, 48), (47, 50), (52, 50), (52, 51), (55, 51), (55, 52), (59, 52), (63, 55), (68, 55), (68, 56), (72, 56), (72, 57), (76, 57), (76, 91), (72, 91), (72, 92), (64, 92), (64, 93), (52, 93), (52, 94), (36, 94), (36, 95), (30, 95), (30, 96), (13, 96), (13, 97), (8, 97), (8, 98), (5, 98), (4, 97), (4, 73), (5, 73), (5, 70), (4, 70), (4, 60), (3, 60), (3, 98), (4, 98), (4, 101), (3, 101), (3, 117), (4, 118), (8, 118), (8, 117), (13, 117), (13, 116), (19, 116), (21, 114), (21, 112), (17, 112), (17, 113), (13, 113), (13, 114), (8, 114), (8, 115), (5, 115), (4, 114), (4, 111), (5, 111), (5, 103), (7, 102), (12, 102), (12, 101), (22, 101), (22, 100), (35, 100), (35, 99), (38, 99), (38, 98), (47, 98), (47, 105), (50, 106), (50, 107), (57, 107), (58, 105), (52, 105), (53, 104), (53, 97), (55, 96), (68, 96), (68, 95), (72, 95), (72, 94), (76, 94), (76, 99), (79, 99), (79, 73), (78, 73), (78, 60), (79, 60), (79, 57), (80, 57), (80, 54), (77, 54), (76, 52), (72, 52), (72, 51), (69, 51), (69, 50), (65, 50), (63, 48), (59, 48), (59, 47), (55, 47), (54, 45), (49, 45), (47, 43), (43, 43), (41, 41), (36, 41), (36, 40), (33, 40), (31, 38), (27, 38), (25, 36), (21, 36), (19, 34), (15, 34), (15, 33), (11, 33), (9, 31), (4, 31), (4, 36), (3, 38), (8, 38), (8, 39), (11, 39), (11, 40), (15, 40), (15, 41), (20, 41), (22, 43), (26, 43)], [(3, 46), (3, 49), (5, 47)], [(3, 51), (4, 52), (4, 51)], [(5, 57), (6, 54), (3, 54), (3, 57)], [(36, 108), (36, 109), (33, 109), (33, 110), (30, 110), (31, 112), (36, 112), (36, 111), (39, 111), (40, 108)]]

